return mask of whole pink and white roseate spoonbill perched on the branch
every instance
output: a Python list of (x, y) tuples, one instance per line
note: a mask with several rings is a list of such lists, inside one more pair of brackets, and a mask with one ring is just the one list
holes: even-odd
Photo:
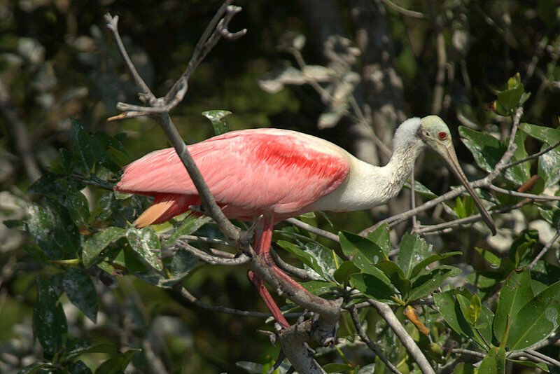
[[(329, 141), (278, 129), (227, 132), (190, 145), (188, 151), (226, 216), (245, 221), (263, 216), (255, 233), (255, 253), (303, 289), (270, 258), (274, 223), (316, 210), (351, 211), (385, 204), (399, 193), (426, 146), (447, 161), (495, 234), (490, 215), (458, 165), (449, 129), (437, 116), (405, 120), (395, 132), (393, 155), (384, 167), (358, 160)], [(138, 228), (165, 222), (201, 204), (174, 148), (154, 151), (127, 165), (115, 189), (154, 198), (134, 221)], [(276, 321), (289, 326), (262, 280), (251, 271), (248, 277)]]

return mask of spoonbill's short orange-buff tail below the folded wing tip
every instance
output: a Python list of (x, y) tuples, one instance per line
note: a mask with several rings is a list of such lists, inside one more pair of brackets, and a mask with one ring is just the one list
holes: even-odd
[(163, 223), (174, 216), (188, 211), (191, 205), (200, 205), (200, 198), (193, 195), (162, 194), (154, 198), (152, 204), (134, 221), (134, 226), (146, 226)]

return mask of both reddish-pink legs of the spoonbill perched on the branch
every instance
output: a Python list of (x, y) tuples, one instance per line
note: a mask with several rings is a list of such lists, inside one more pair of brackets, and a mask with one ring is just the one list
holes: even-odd
[[(276, 266), (276, 264), (272, 260), (272, 257), (270, 256), (270, 244), (272, 242), (272, 228), (274, 228), (274, 219), (272, 217), (265, 217), (264, 221), (262, 222), (262, 226), (260, 226), (255, 233), (255, 244), (254, 244), (255, 254), (257, 254), (257, 256), (259, 256), (260, 258), (262, 258), (265, 261), (265, 263), (274, 272), (276, 272), (277, 275), (279, 275), (283, 279), (286, 279), (287, 282), (289, 282), (296, 288), (307, 291), (302, 287), (301, 284), (295, 282), (295, 280), (293, 280), (285, 272), (280, 270), (280, 268), (278, 268), (278, 266)], [(255, 273), (251, 270), (248, 270), (247, 275), (248, 278), (251, 280), (251, 282), (255, 285), (262, 300), (265, 301), (265, 305), (267, 305), (268, 310), (270, 310), (270, 312), (274, 316), (274, 319), (276, 319), (276, 321), (278, 321), (278, 323), (281, 324), (283, 328), (288, 328), (290, 324), (288, 324), (288, 321), (286, 321), (286, 318), (280, 312), (278, 305), (276, 305), (276, 302), (274, 302), (274, 299), (266, 289), (265, 284), (262, 282), (262, 279), (260, 279), (257, 275), (255, 275)]]

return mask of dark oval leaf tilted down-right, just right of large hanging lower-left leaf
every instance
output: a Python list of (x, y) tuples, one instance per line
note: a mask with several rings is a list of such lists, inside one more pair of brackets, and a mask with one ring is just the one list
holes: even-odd
[(62, 278), (62, 287), (70, 302), (85, 316), (97, 322), (97, 291), (92, 279), (80, 269), (66, 268)]

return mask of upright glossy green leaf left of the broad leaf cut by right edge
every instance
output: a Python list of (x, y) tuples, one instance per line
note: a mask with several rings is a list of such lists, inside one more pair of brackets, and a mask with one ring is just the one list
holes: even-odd
[[(498, 308), (493, 321), (493, 332), (496, 338), (505, 334), (507, 319), (511, 320), (521, 307), (533, 298), (531, 289), (531, 274), (527, 268), (514, 270), (505, 278), (500, 296), (498, 297)], [(511, 324), (510, 324), (511, 326)]]

